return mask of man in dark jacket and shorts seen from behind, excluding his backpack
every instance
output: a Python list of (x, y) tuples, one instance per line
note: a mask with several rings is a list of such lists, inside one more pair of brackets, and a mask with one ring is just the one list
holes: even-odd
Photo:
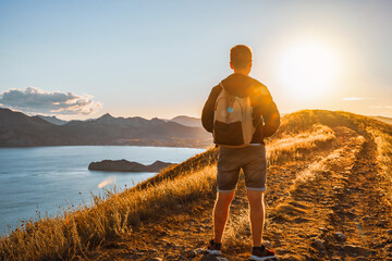
[(249, 47), (237, 45), (230, 50), (230, 67), (234, 73), (215, 86), (208, 97), (203, 109), (203, 126), (208, 132), (213, 133), (216, 101), (224, 88), (225, 91), (235, 97), (250, 98), (255, 133), (250, 145), (246, 147), (219, 146), (213, 239), (207, 247), (207, 251), (212, 254), (221, 253), (221, 240), (228, 221), (229, 207), (234, 198), (240, 170), (242, 169), (250, 207), (249, 217), (253, 237), (250, 260), (269, 260), (274, 258), (274, 253), (267, 250), (261, 241), (265, 222), (264, 192), (267, 190), (267, 158), (264, 138), (278, 130), (280, 114), (267, 87), (248, 76), (252, 69), (252, 50)]

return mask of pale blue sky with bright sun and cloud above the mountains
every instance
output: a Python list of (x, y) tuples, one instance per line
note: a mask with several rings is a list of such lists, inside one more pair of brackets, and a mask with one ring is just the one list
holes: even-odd
[(388, 0), (0, 0), (0, 107), (199, 117), (243, 44), (281, 113), (392, 116), (391, 13)]

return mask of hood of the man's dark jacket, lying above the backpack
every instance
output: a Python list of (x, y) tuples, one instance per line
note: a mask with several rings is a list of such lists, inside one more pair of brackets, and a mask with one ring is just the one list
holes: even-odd
[(220, 84), (226, 91), (238, 97), (249, 96), (254, 87), (261, 85), (257, 79), (238, 73), (229, 75)]

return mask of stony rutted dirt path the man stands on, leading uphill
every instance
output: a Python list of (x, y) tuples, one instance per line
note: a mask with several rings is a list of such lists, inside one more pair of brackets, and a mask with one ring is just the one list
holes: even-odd
[[(266, 244), (280, 260), (392, 260), (392, 209), (378, 189), (377, 145), (365, 132), (334, 132), (333, 147), (269, 167)], [(212, 236), (213, 200), (173, 206), (170, 216), (146, 222), (81, 260), (217, 260), (203, 251)], [(241, 181), (231, 206), (225, 259), (248, 259), (246, 221)]]

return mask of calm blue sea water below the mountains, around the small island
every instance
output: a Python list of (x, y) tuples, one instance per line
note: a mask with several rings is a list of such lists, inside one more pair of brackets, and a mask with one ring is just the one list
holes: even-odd
[(0, 235), (23, 221), (90, 204), (93, 195), (122, 191), (157, 173), (89, 171), (101, 160), (180, 163), (205, 149), (138, 146), (0, 148)]

